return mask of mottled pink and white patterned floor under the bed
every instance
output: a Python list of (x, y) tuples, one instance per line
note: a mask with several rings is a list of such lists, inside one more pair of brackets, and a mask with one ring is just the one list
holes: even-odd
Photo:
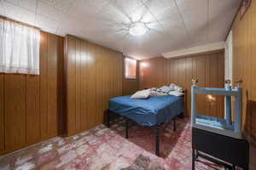
[[(0, 157), (0, 169), (84, 169), (84, 170), (186, 170), (191, 169), (191, 127), (189, 119), (172, 122), (160, 133), (160, 157), (154, 156), (154, 132), (134, 125), (125, 139), (124, 122), (109, 129), (100, 125), (73, 137), (56, 137)], [(196, 162), (197, 170), (219, 169), (207, 161)]]

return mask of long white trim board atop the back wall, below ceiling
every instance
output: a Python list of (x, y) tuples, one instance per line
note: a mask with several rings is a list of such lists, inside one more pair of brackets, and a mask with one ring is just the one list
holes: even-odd
[(209, 43), (207, 45), (197, 46), (194, 48), (180, 49), (177, 51), (163, 53), (162, 55), (165, 58), (172, 58), (172, 57), (184, 56), (189, 54), (199, 54), (199, 53), (204, 53), (207, 51), (213, 51), (218, 49), (224, 49), (224, 42), (215, 42), (215, 43)]

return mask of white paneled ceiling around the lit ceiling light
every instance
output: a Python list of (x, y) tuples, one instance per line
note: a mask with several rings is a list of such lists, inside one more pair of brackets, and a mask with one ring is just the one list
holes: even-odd
[[(240, 0), (0, 0), (0, 14), (137, 59), (224, 41)], [(131, 22), (147, 23), (140, 37)]]

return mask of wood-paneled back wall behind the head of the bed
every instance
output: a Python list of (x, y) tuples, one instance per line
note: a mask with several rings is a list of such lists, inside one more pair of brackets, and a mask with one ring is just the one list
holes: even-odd
[[(140, 88), (160, 88), (177, 83), (187, 90), (186, 114), (190, 116), (191, 79), (198, 77), (198, 86), (224, 87), (224, 51), (196, 54), (177, 59), (163, 57), (141, 61)], [(224, 99), (198, 95), (197, 111), (207, 116), (224, 116)]]

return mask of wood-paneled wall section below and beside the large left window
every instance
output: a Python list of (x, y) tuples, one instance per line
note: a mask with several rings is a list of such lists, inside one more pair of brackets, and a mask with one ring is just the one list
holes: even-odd
[(40, 76), (0, 74), (0, 154), (62, 132), (64, 38), (41, 32)]

